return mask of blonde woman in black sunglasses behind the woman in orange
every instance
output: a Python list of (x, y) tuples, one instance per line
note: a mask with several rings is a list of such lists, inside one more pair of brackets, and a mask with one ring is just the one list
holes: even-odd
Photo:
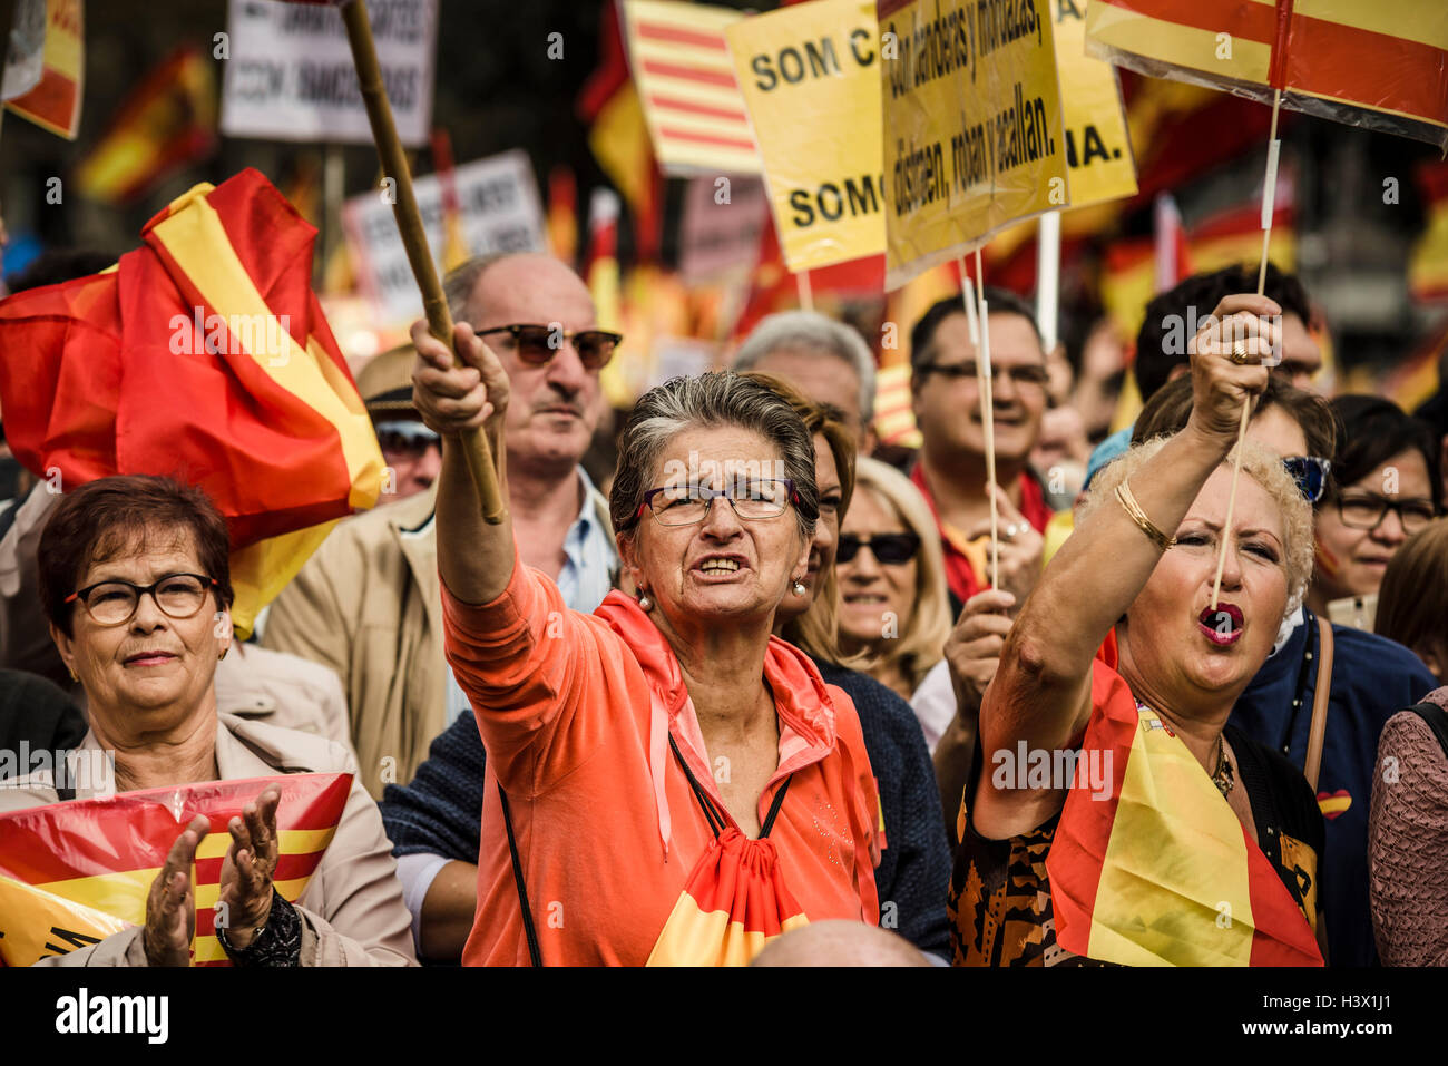
[(904, 474), (856, 465), (859, 492), (840, 526), (840, 647), (905, 700), (940, 662), (950, 604), (930, 507)]

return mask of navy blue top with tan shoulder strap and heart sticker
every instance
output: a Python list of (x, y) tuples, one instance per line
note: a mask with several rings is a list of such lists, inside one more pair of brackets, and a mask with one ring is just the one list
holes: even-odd
[[(1312, 700), (1318, 688), (1318, 618), (1297, 626), (1267, 658), (1237, 700), (1231, 721), (1300, 768), (1308, 757)], [(1306, 655), (1312, 653), (1308, 659)], [(1297, 697), (1297, 679), (1303, 678)], [(1367, 813), (1373, 798), (1377, 737), (1383, 724), (1438, 688), (1434, 675), (1399, 643), (1374, 633), (1332, 627), (1332, 687), (1322, 742), (1318, 804), (1326, 818), (1319, 899), (1328, 918), (1328, 963), (1376, 966), (1367, 894)], [(1302, 705), (1293, 714), (1293, 700)]]

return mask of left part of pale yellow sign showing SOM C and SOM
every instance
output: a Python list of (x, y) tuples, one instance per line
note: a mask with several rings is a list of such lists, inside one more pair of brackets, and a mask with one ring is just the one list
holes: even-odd
[[(817, 0), (724, 30), (791, 271), (885, 251), (873, 0)], [(864, 135), (862, 135), (862, 130)]]

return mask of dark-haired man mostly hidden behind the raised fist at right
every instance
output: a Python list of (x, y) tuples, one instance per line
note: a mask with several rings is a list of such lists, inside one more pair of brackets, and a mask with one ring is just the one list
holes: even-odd
[[(1142, 403), (1171, 378), (1187, 372), (1186, 339), (1197, 323), (1211, 314), (1222, 297), (1257, 291), (1257, 266), (1226, 266), (1211, 274), (1193, 274), (1169, 293), (1147, 304), (1141, 332), (1137, 333), (1137, 361), (1132, 369)], [(1277, 372), (1297, 388), (1310, 388), (1312, 377), (1322, 368), (1322, 351), (1308, 332), (1312, 306), (1308, 290), (1295, 274), (1267, 264), (1264, 295), (1281, 307), (1281, 364)]]

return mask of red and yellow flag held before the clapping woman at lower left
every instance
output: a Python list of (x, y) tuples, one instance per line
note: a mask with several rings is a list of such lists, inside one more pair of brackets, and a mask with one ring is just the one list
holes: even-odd
[(191, 818), (211, 828), (197, 844), (195, 966), (227, 966), (216, 939), (226, 824), (281, 785), (277, 891), (295, 902), (332, 843), (352, 791), (350, 773), (207, 781), (181, 788), (71, 800), (0, 814), (0, 962), (29, 966), (146, 921), (151, 884)]

